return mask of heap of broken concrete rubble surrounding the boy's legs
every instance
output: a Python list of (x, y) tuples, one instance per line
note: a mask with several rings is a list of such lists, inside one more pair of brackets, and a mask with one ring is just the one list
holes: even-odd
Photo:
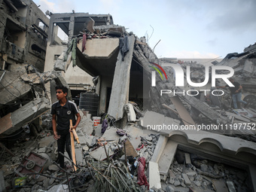
[[(2, 151), (1, 164), (4, 166), (0, 170), (5, 178), (7, 190), (14, 188), (18, 191), (35, 192), (53, 191), (56, 187), (62, 187), (62, 190), (68, 191), (69, 183), (70, 187), (76, 191), (102, 191), (101, 189), (108, 185), (109, 188), (123, 186), (125, 191), (141, 191), (140, 188), (143, 187), (136, 184), (138, 160), (139, 157), (144, 157), (145, 167), (148, 168), (148, 162), (154, 154), (159, 135), (144, 134), (143, 130), (135, 126), (127, 126), (123, 130), (108, 126), (105, 133), (102, 134), (100, 133), (101, 124), (94, 127), (93, 121), (85, 116), (83, 111), (79, 111), (79, 113), (81, 114), (81, 123), (77, 127), (77, 133), (80, 144), (75, 145), (79, 171), (76, 174), (72, 173), (72, 161), (66, 158), (66, 165), (69, 167), (66, 172), (71, 180), (67, 182), (66, 175), (63, 175), (62, 170), (55, 163), (58, 156), (56, 140), (53, 139), (52, 130), (45, 129), (46, 127), (50, 128), (51, 120), (51, 115), (46, 113), (41, 117), (44, 130), (37, 136), (26, 133), (23, 140), (10, 143), (8, 147), (11, 147), (14, 157), (10, 158), (8, 153)], [(133, 133), (137, 133), (137, 136), (135, 137)], [(29, 169), (26, 170), (28, 166), (26, 159), (29, 159), (31, 154), (35, 156), (34, 160), (35, 158), (46, 159), (47, 163), (44, 164), (40, 172), (27, 173)], [(129, 161), (130, 159), (133, 163)], [(126, 166), (126, 160), (128, 166)], [(23, 169), (26, 170), (25, 175), (22, 173)], [(131, 174), (132, 169), (133, 174)], [(20, 185), (17, 184), (18, 180)]]

